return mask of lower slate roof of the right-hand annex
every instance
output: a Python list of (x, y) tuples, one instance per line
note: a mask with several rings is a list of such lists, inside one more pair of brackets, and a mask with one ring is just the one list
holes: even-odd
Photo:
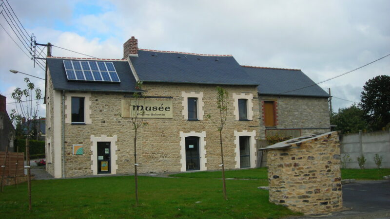
[[(315, 82), (299, 69), (277, 69), (252, 66), (242, 66), (242, 68), (258, 82), (259, 86), (257, 87), (257, 90), (260, 95), (329, 97), (329, 94), (326, 91), (318, 85), (314, 85)], [(314, 86), (292, 91), (309, 85)]]

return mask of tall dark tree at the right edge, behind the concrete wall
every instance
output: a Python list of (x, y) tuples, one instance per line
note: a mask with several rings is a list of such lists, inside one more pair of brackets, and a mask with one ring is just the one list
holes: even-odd
[(379, 75), (363, 86), (359, 107), (373, 130), (390, 126), (390, 76)]

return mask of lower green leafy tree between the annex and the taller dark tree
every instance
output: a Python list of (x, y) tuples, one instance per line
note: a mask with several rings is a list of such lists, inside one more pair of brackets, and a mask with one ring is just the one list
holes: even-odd
[(351, 107), (340, 108), (337, 113), (332, 113), (331, 125), (336, 125), (335, 130), (342, 133), (355, 133), (368, 128), (364, 119), (364, 111), (355, 104)]

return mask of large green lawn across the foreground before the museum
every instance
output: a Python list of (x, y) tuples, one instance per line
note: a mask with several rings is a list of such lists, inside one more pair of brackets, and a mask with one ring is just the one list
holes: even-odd
[[(252, 170), (254, 171), (254, 170)], [(264, 171), (264, 170), (261, 170)], [(238, 172), (237, 172), (238, 173)], [(265, 180), (228, 180), (228, 201), (218, 179), (139, 177), (135, 207), (134, 177), (99, 177), (32, 182), (33, 210), (27, 185), (6, 186), (0, 194), (0, 218), (280, 218), (299, 215), (269, 203)], [(196, 201), (201, 201), (196, 203)]]

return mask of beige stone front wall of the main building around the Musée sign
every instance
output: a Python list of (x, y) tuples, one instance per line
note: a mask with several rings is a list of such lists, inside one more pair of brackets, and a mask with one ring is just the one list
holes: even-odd
[[(200, 121), (184, 120), (182, 115), (181, 91), (203, 92), (204, 113), (211, 114), (212, 119), (218, 121), (218, 110), (216, 109), (216, 90), (214, 85), (183, 85), (183, 84), (162, 84), (144, 83), (143, 90), (145, 96), (171, 96), (173, 97), (173, 118), (145, 118), (149, 123), (147, 127), (141, 127), (137, 136), (137, 163), (140, 173), (147, 172), (178, 172), (180, 171), (180, 136), (179, 132), (206, 132), (206, 158), (207, 170), (220, 169), (220, 147), (219, 132), (210, 120), (203, 117)], [(234, 157), (234, 130), (243, 131), (255, 130), (258, 132), (259, 115), (258, 99), (255, 86), (222, 86), (229, 92), (228, 118), (223, 129), (224, 158), (225, 167), (233, 169), (235, 166)], [(233, 93), (249, 92), (253, 93), (254, 99), (254, 120), (237, 121), (234, 120)], [(131, 174), (134, 171), (134, 153), (131, 119), (121, 117), (121, 100), (128, 93), (105, 93), (92, 92), (91, 95), (91, 119), (92, 124), (72, 125), (65, 124), (65, 176), (75, 177), (92, 175), (91, 169), (91, 135), (100, 137), (107, 135), (112, 137), (117, 135), (117, 148), (115, 152), (117, 158), (117, 174)], [(151, 100), (170, 100), (153, 99)], [(65, 100), (66, 101), (66, 100)], [(65, 109), (68, 106), (65, 106)], [(84, 146), (83, 155), (73, 155), (72, 146), (82, 144)], [(113, 154), (114, 151), (112, 151)]]

